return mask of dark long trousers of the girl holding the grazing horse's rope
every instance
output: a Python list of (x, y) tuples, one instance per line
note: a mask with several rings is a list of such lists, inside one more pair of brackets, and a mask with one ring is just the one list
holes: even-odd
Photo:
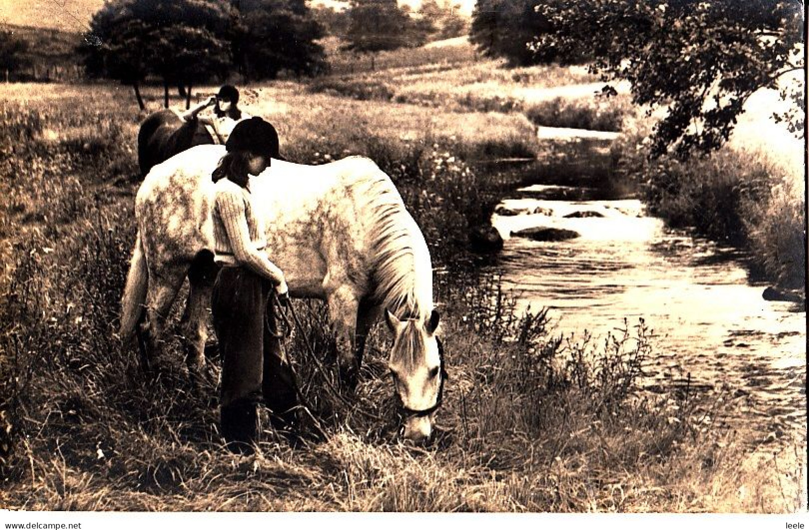
[(294, 427), (298, 405), (294, 375), (283, 358), (273, 286), (243, 267), (222, 267), (214, 282), (211, 310), (222, 357), (222, 436), (231, 450), (244, 452), (256, 441), (256, 405), (265, 402), (273, 426)]

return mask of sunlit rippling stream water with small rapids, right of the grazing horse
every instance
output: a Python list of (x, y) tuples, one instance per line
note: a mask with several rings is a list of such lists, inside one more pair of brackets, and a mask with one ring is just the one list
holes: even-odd
[[(743, 255), (673, 231), (641, 201), (597, 189), (535, 184), (493, 215), (505, 240), (493, 267), (519, 308), (549, 308), (554, 333), (596, 344), (639, 319), (652, 331), (651, 384), (690, 378), (690, 388), (744, 396), (731, 424), (753, 443), (806, 428), (806, 312), (763, 299)], [(578, 232), (564, 241), (511, 235), (528, 227)], [(626, 319), (626, 320), (625, 320)]]

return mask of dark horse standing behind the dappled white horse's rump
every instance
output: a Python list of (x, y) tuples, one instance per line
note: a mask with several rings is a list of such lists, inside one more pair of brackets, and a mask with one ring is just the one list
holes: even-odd
[(183, 121), (167, 108), (152, 112), (138, 130), (138, 164), (141, 178), (152, 167), (193, 146), (216, 143), (205, 125), (197, 120)]

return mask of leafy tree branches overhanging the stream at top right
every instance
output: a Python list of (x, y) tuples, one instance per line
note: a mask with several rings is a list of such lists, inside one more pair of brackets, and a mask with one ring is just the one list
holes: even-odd
[[(530, 44), (536, 62), (587, 49), (591, 70), (629, 81), (635, 104), (667, 107), (652, 155), (717, 150), (750, 95), (806, 71), (799, 0), (552, 0), (536, 10), (549, 22)], [(805, 110), (802, 89), (791, 95)], [(803, 134), (803, 112), (783, 118)]]

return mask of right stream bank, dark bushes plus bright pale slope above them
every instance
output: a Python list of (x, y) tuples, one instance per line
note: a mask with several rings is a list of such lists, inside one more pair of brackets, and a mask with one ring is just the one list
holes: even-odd
[[(778, 88), (791, 91), (804, 83), (796, 73)], [(745, 103), (726, 146), (705, 159), (646, 159), (648, 120), (632, 121), (613, 151), (650, 213), (747, 252), (751, 281), (769, 286), (767, 296), (804, 299), (805, 305), (805, 138), (773, 118), (789, 108), (777, 90), (760, 89)]]

